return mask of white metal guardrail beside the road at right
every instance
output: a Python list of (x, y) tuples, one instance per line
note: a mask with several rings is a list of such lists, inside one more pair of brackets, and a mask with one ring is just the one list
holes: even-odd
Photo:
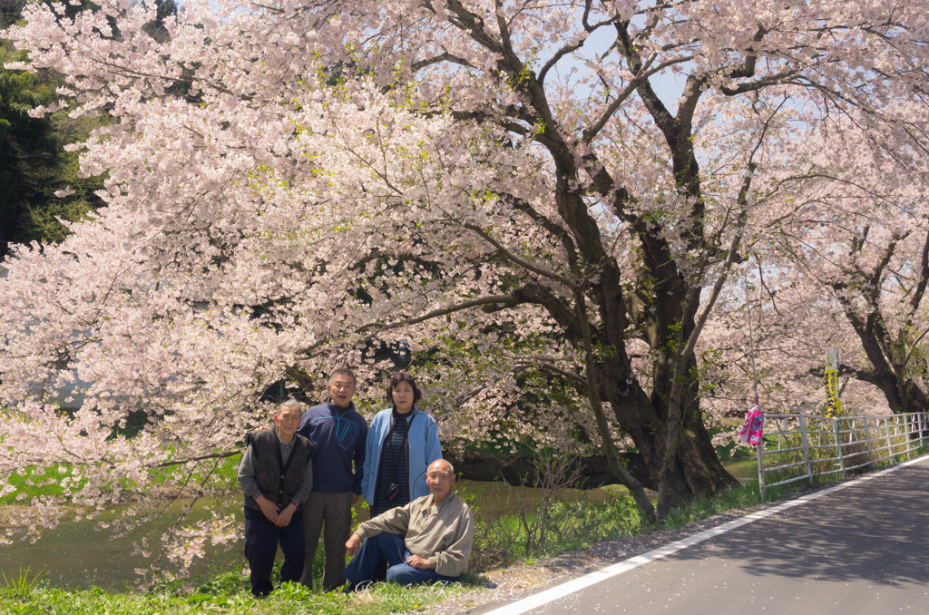
[[(774, 441), (777, 448), (773, 448)], [(841, 474), (912, 452), (929, 440), (925, 412), (881, 416), (809, 416), (765, 414), (765, 439), (759, 444), (758, 484), (766, 502), (768, 487), (815, 476)], [(773, 478), (769, 481), (768, 477)]]

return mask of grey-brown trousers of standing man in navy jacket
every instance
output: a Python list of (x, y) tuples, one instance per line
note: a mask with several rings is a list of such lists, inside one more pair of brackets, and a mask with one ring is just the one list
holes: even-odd
[[(322, 589), (331, 592), (345, 583), (342, 571), (346, 568), (346, 542), (351, 535), (351, 491), (325, 493), (312, 491), (303, 505), (303, 527), (307, 540), (306, 557), (300, 583), (313, 587), (313, 558), (316, 547), (322, 544), (325, 555), (322, 569)], [(324, 531), (323, 531), (324, 530)]]

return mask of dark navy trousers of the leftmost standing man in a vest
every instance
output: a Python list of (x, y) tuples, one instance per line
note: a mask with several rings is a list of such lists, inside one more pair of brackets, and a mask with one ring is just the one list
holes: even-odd
[(274, 568), (278, 543), (281, 543), (284, 554), (281, 582), (298, 582), (303, 570), (303, 514), (295, 512), (291, 522), (279, 528), (268, 521), (260, 510), (245, 506), (245, 557), (248, 559), (248, 567), (252, 569), (254, 595), (268, 595), (274, 589), (271, 585), (271, 569)]

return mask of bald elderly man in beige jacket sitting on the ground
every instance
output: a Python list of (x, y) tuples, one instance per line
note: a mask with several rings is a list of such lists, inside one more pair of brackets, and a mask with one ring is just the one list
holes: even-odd
[(429, 495), (365, 521), (348, 539), (348, 555), (354, 557), (343, 572), (348, 589), (377, 581), (375, 570), (383, 561), (389, 567), (386, 580), (402, 585), (454, 582), (467, 569), (474, 517), (451, 491), (454, 468), (438, 459), (426, 470), (425, 482)]

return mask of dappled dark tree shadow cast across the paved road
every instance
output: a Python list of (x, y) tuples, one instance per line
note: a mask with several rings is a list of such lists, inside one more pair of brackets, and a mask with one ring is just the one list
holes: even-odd
[(752, 575), (886, 585), (929, 582), (929, 466), (831, 493), (685, 549)]

